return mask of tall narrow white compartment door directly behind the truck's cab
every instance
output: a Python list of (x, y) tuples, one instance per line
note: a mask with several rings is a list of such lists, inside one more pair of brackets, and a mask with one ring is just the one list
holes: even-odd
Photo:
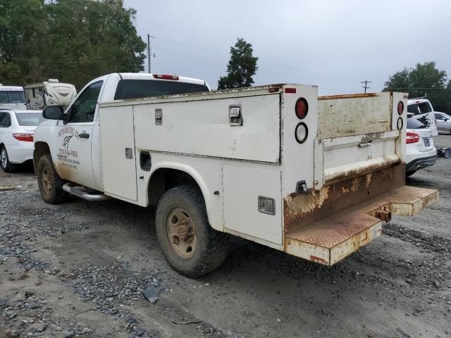
[(104, 192), (137, 201), (133, 107), (102, 107), (99, 111)]

